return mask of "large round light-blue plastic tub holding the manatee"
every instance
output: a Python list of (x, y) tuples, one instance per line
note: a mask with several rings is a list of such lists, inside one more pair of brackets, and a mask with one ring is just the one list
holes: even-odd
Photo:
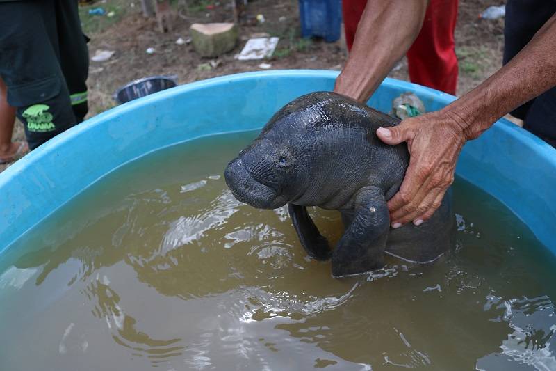
[[(0, 258), (33, 226), (126, 162), (202, 136), (260, 129), (290, 100), (332, 90), (337, 75), (276, 70), (218, 77), (133, 100), (72, 127), (0, 173)], [(386, 79), (369, 104), (389, 111), (393, 98), (407, 91), (428, 111), (455, 99)], [(465, 145), (457, 174), (498, 198), (556, 255), (554, 148), (500, 120)]]

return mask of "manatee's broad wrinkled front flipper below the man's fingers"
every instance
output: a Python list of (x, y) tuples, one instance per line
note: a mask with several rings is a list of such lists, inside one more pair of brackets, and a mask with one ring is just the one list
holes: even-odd
[(361, 189), (351, 223), (332, 254), (332, 276), (360, 274), (384, 267), (390, 216), (381, 189)]

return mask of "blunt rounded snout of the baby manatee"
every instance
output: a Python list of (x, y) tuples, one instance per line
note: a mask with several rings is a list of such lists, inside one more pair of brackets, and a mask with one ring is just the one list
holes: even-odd
[(258, 209), (276, 209), (288, 202), (276, 189), (257, 181), (240, 157), (228, 164), (224, 178), (234, 197), (247, 205)]

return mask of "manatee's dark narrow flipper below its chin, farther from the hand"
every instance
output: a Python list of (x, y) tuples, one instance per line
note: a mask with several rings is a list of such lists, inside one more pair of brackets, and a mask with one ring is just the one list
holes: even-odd
[(316, 260), (328, 260), (331, 255), (328, 241), (318, 231), (306, 207), (289, 203), (288, 211), (295, 232), (297, 232), (297, 236), (309, 256)]

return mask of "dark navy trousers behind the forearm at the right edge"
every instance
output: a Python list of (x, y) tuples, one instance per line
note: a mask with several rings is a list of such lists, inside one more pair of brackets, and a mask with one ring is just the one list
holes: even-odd
[[(508, 0), (504, 27), (504, 61), (508, 63), (556, 13), (556, 0)], [(512, 111), (533, 134), (556, 147), (556, 88)]]

